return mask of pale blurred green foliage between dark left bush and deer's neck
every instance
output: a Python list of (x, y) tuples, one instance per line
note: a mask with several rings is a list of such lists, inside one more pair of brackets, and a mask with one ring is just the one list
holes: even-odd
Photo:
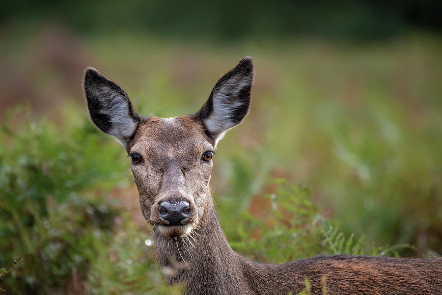
[[(107, 244), (100, 243), (91, 262), (86, 290), (93, 295), (177, 295), (180, 286), (165, 285), (162, 272), (154, 261), (153, 243), (140, 232), (130, 216), (124, 214), (121, 227)], [(150, 241), (146, 246), (145, 241)]]

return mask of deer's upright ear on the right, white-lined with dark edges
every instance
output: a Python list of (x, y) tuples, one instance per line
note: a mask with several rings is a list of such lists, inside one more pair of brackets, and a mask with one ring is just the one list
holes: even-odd
[(218, 80), (207, 102), (195, 114), (214, 146), (227, 130), (241, 123), (249, 112), (252, 83), (252, 59), (244, 57)]

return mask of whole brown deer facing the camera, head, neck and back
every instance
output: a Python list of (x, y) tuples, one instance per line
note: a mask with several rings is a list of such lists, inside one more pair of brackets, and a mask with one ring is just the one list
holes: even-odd
[[(229, 245), (209, 182), (218, 142), (250, 108), (253, 62), (244, 57), (194, 114), (139, 115), (127, 93), (88, 67), (84, 95), (92, 123), (131, 158), (142, 215), (169, 285), (186, 295), (442, 295), (442, 258), (319, 255), (285, 264), (247, 260)], [(309, 283), (306, 283), (308, 279)]]

